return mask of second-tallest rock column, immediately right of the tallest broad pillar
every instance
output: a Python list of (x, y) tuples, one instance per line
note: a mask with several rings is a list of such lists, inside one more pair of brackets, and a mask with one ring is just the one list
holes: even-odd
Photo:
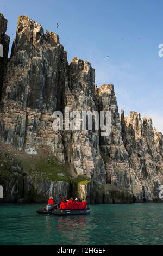
[[(77, 58), (72, 60), (68, 84), (66, 106), (70, 111), (79, 111), (82, 118), (82, 111), (97, 110), (95, 70), (89, 62)], [(65, 133), (65, 151), (76, 174), (86, 175), (99, 183), (105, 183), (106, 174), (99, 152), (98, 131), (81, 130)]]

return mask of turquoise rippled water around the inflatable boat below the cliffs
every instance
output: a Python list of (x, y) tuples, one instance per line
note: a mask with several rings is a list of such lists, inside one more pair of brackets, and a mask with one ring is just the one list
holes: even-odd
[(90, 215), (36, 214), (42, 204), (0, 204), (0, 245), (162, 245), (163, 204), (91, 205)]

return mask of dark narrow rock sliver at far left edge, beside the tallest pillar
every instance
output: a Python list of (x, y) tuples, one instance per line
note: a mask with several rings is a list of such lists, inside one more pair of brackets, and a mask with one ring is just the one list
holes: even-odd
[(9, 43), (10, 38), (5, 34), (7, 31), (7, 19), (4, 18), (3, 14), (0, 14), (0, 99), (1, 99), (1, 90), (3, 85), (3, 76), (8, 60), (9, 52)]

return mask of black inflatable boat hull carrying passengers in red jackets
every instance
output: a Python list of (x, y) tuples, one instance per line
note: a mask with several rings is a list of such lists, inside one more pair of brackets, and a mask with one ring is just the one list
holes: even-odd
[[(36, 211), (38, 214), (48, 214), (48, 211), (46, 210), (46, 207), (42, 207)], [(83, 214), (89, 214), (90, 209), (89, 207), (87, 209), (83, 210), (60, 210), (60, 209), (53, 209), (50, 214), (54, 215), (83, 215)]]

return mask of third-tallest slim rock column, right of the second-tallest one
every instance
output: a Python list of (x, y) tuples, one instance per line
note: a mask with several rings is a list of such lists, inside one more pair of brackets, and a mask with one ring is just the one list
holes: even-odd
[(136, 193), (134, 191), (134, 196), (139, 197), (139, 200), (141, 200), (142, 187), (134, 179), (136, 173), (131, 169), (128, 161), (129, 156), (122, 139), (122, 127), (112, 84), (105, 84), (99, 88), (99, 106), (101, 111), (109, 111), (111, 113), (111, 133), (109, 136), (100, 138), (102, 156), (105, 159), (107, 183), (111, 185), (110, 187), (106, 186), (109, 189), (108, 193), (110, 193), (110, 190), (115, 193), (120, 189), (121, 193), (124, 193), (130, 200), (135, 184), (137, 191)]

